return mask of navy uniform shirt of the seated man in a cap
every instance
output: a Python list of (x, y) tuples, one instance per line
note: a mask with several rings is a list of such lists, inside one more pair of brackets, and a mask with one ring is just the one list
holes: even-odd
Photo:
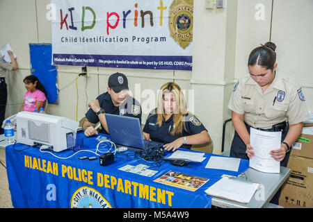
[[(99, 95), (97, 100), (99, 101), (100, 107), (104, 109), (104, 112), (126, 117), (136, 117), (141, 122), (141, 104), (132, 96), (128, 95), (127, 99), (120, 106), (113, 105), (109, 92), (105, 92), (104, 94)], [(93, 112), (91, 108), (88, 110), (88, 112), (86, 112), (86, 119), (88, 119), (90, 123), (94, 124), (99, 122), (97, 114)], [(106, 130), (104, 130), (103, 126), (99, 133), (108, 134)]]

